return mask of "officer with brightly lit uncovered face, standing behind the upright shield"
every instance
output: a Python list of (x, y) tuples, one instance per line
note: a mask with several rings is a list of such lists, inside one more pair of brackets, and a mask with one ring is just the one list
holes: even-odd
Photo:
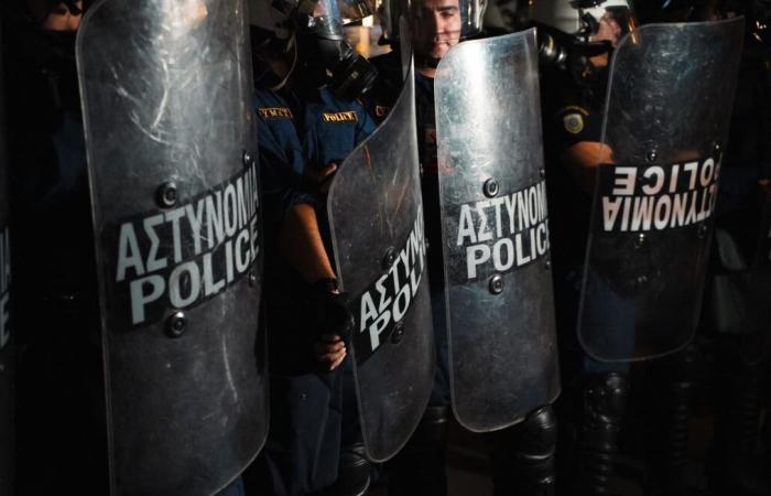
[[(388, 115), (401, 88), (397, 26), (405, 14), (414, 50), (415, 107), (425, 233), (428, 241), (428, 274), (432, 314), (437, 353), (437, 370), (428, 407), (406, 446), (387, 464), (389, 494), (445, 495), (445, 445), (450, 421), (450, 378), (448, 364), (447, 319), (444, 303), (445, 270), (439, 201), (439, 165), (434, 98), (434, 77), (439, 61), (450, 47), (468, 36), (479, 34), (485, 2), (422, 0), (409, 10), (400, 2), (388, 3), (383, 12), (386, 41), (392, 52), (376, 57), (380, 77), (366, 104), (378, 120)], [(476, 25), (477, 31), (465, 28)], [(495, 103), (491, 103), (495, 105)], [(486, 439), (492, 445), (496, 494), (551, 494), (555, 477), (553, 466), (556, 421), (551, 406), (536, 408), (514, 428)]]

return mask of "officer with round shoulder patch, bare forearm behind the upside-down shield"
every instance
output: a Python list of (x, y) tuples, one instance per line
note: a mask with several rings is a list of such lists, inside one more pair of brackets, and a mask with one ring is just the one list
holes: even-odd
[[(544, 6), (535, 9), (539, 7)], [(537, 13), (535, 18), (546, 25), (557, 24), (552, 19), (537, 19)], [(571, 22), (569, 17), (560, 17), (564, 18)], [(596, 20), (597, 32), (588, 41), (615, 43), (620, 32), (618, 23), (606, 15)], [(575, 31), (574, 25), (556, 26)], [(558, 405), (561, 410), (565, 405), (574, 410), (567, 416), (561, 411), (558, 488), (567, 489), (565, 494), (600, 494), (609, 490), (608, 475), (628, 385), (627, 367), (586, 358), (574, 337), (595, 166), (608, 161), (611, 153), (599, 142), (608, 54), (575, 58), (560, 65), (544, 64), (541, 78), (552, 267), (564, 378)], [(575, 436), (580, 443), (577, 449), (568, 441), (575, 441)], [(580, 475), (576, 477), (575, 473)]]

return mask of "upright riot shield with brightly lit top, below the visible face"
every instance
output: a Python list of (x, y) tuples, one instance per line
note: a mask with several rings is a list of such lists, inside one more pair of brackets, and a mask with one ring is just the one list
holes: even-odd
[(560, 392), (535, 30), (453, 47), (436, 71), (455, 417), (521, 421)]

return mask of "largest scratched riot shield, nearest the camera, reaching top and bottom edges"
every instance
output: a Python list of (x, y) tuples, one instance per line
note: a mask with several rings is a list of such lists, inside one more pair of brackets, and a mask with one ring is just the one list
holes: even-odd
[(106, 0), (77, 57), (112, 494), (209, 495), (268, 427), (242, 0)]

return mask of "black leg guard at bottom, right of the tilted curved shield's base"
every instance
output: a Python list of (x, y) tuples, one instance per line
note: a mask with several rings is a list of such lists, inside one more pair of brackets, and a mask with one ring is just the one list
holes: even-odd
[(449, 407), (428, 407), (415, 433), (387, 465), (389, 496), (446, 496)]

